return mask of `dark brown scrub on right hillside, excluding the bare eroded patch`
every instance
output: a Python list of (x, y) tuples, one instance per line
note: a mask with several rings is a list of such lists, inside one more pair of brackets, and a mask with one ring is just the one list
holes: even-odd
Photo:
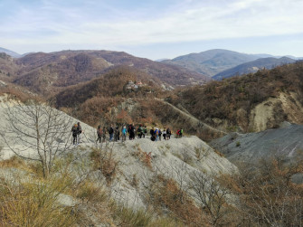
[[(248, 132), (250, 113), (260, 102), (270, 97), (279, 97), (280, 92), (295, 92), (303, 103), (303, 62), (276, 67), (272, 70), (261, 70), (222, 81), (212, 81), (205, 86), (176, 90), (175, 96), (166, 99), (172, 104), (182, 105), (194, 117), (213, 127), (224, 127), (234, 130), (241, 127)], [(268, 128), (288, 119), (278, 106), (275, 120)], [(300, 117), (300, 119), (302, 119)], [(297, 123), (303, 123), (298, 121)], [(202, 135), (203, 137), (203, 135)]]

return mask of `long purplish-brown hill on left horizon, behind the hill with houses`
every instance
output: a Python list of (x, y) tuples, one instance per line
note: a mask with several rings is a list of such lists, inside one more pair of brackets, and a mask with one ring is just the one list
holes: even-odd
[(208, 80), (194, 71), (134, 57), (126, 52), (62, 51), (32, 53), (15, 60), (15, 83), (36, 92), (52, 93), (61, 87), (98, 78), (112, 67), (128, 66), (168, 85), (201, 84)]

